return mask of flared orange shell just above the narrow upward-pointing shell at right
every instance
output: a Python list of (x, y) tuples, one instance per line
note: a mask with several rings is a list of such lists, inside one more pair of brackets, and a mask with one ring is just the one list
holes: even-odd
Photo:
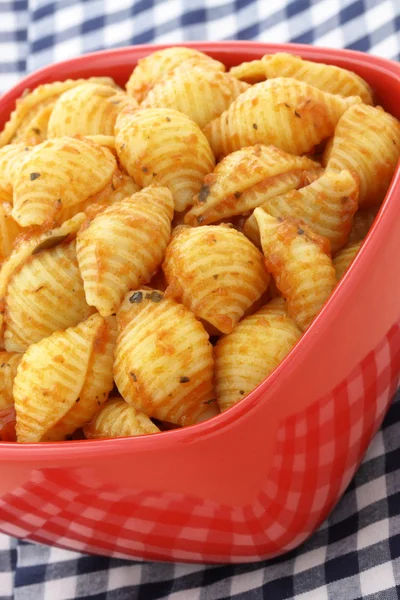
[[(350, 171), (326, 171), (310, 185), (275, 196), (261, 208), (273, 217), (302, 221), (315, 233), (327, 238), (332, 252), (336, 252), (349, 237), (357, 199), (358, 181)], [(246, 226), (252, 231), (257, 229), (254, 215), (248, 218)]]

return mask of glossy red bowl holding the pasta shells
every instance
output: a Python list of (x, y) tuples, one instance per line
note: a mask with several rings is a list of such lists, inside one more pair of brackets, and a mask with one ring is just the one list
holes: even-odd
[[(400, 118), (400, 66), (359, 52), (291, 44), (188, 43), (228, 66), (293, 52), (354, 70)], [(26, 77), (0, 100), (0, 125), (25, 88), (110, 75), (165, 46), (88, 54)], [(247, 562), (302, 543), (354, 475), (400, 373), (399, 168), (363, 248), (300, 342), (229, 411), (160, 435), (0, 443), (0, 530), (122, 558)]]

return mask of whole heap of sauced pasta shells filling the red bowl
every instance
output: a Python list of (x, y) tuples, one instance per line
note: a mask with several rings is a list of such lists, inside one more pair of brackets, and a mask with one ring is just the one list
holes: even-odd
[(356, 256), (400, 124), (348, 70), (154, 52), (0, 134), (0, 439), (153, 434), (245, 398)]

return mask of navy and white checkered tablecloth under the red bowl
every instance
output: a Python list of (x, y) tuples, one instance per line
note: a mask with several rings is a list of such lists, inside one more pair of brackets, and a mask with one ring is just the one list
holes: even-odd
[[(27, 72), (129, 44), (254, 39), (399, 60), (400, 0), (0, 0), (0, 91)], [(301, 548), (238, 566), (137, 563), (0, 534), (0, 600), (400, 598), (400, 392), (358, 474)]]

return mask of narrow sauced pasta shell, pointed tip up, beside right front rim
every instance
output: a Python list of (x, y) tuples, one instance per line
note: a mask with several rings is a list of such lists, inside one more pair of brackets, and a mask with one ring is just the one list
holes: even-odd
[(317, 316), (336, 286), (329, 242), (295, 220), (277, 219), (256, 208), (265, 264), (302, 331)]

